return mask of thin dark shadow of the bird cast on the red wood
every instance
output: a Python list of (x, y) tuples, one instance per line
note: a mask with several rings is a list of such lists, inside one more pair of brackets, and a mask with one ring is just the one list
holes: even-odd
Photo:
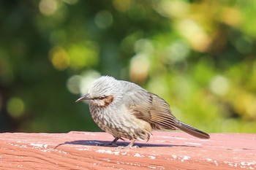
[[(125, 147), (129, 144), (129, 142), (116, 142), (116, 145), (111, 145), (110, 141), (99, 141), (99, 140), (78, 140), (72, 142), (64, 142), (62, 144), (58, 144), (54, 149), (60, 147), (64, 144), (78, 144), (78, 145), (86, 145), (86, 146), (100, 146), (100, 147)], [(137, 147), (196, 147), (191, 145), (175, 145), (175, 144), (150, 144), (150, 143), (136, 143), (134, 146)]]

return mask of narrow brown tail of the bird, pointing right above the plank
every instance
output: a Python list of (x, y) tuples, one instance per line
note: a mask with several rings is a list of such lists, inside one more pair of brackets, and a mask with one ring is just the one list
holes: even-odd
[(197, 128), (193, 128), (191, 125), (187, 125), (186, 123), (183, 123), (181, 121), (178, 121), (178, 123), (176, 123), (176, 127), (181, 131), (184, 131), (187, 134), (191, 134), (192, 136), (195, 136), (197, 138), (201, 138), (201, 139), (210, 138), (210, 135), (206, 134), (205, 132), (200, 131)]

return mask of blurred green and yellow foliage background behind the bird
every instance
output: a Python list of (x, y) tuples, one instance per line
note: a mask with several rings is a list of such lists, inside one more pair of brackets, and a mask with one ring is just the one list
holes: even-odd
[(256, 1), (0, 1), (0, 131), (99, 131), (100, 75), (207, 132), (256, 132)]

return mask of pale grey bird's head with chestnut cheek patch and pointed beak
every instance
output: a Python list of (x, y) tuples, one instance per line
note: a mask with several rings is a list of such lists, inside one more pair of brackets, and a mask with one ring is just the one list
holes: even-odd
[(90, 100), (90, 104), (96, 107), (108, 107), (108, 105), (117, 103), (123, 90), (121, 90), (121, 83), (113, 77), (102, 76), (91, 84), (88, 93), (78, 98), (78, 101)]

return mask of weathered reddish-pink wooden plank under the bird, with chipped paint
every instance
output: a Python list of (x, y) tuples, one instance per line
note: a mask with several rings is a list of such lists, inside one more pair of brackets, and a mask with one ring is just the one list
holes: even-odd
[(0, 169), (256, 169), (256, 134), (156, 131), (135, 149), (108, 147), (112, 140), (99, 132), (3, 133)]

